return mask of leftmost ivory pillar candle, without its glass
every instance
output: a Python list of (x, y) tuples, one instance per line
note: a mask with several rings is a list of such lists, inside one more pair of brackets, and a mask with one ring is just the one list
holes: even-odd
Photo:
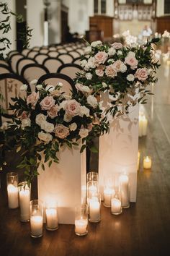
[(8, 205), (9, 208), (15, 209), (18, 208), (19, 202), (18, 202), (18, 187), (15, 187), (12, 184), (9, 184), (7, 186), (7, 192), (8, 192)]

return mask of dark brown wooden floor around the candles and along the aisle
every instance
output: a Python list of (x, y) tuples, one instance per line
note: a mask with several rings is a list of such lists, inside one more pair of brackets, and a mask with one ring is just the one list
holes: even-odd
[[(164, 71), (166, 70), (166, 76)], [(112, 216), (102, 206), (102, 221), (89, 223), (84, 237), (74, 234), (73, 225), (60, 225), (40, 239), (30, 237), (30, 223), (19, 221), (19, 210), (8, 210), (6, 171), (14, 170), (17, 158), (1, 171), (1, 256), (168, 256), (170, 255), (170, 84), (167, 68), (159, 71), (154, 99), (147, 106), (148, 135), (140, 138), (140, 170), (137, 202)], [(143, 155), (151, 155), (151, 171), (143, 170)], [(94, 157), (94, 155), (93, 155)]]

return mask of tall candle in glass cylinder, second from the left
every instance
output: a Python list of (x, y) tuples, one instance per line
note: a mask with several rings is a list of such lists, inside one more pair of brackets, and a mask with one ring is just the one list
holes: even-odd
[(19, 206), (20, 206), (20, 221), (30, 221), (30, 194), (31, 189), (27, 182), (18, 184), (19, 191)]

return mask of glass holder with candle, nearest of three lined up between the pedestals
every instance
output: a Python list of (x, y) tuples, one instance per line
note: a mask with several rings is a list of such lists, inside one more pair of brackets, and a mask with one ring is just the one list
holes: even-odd
[(101, 208), (101, 196), (97, 194), (88, 198), (89, 205), (89, 221), (99, 222), (101, 220), (100, 208)]

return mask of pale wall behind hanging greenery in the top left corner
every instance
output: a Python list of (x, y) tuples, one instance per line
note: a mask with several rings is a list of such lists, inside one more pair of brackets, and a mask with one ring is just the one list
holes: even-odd
[[(7, 2), (8, 3), (8, 7), (10, 10), (12, 10), (12, 12), (15, 12), (15, 0), (8, 0), (8, 1), (5, 1), (5, 0), (2, 0), (1, 1), (2, 3), (3, 2)], [(4, 14), (1, 14), (1, 20), (4, 20), (6, 19), (6, 15)], [(12, 50), (15, 50), (16, 49), (16, 38), (17, 38), (17, 35), (16, 35), (16, 18), (12, 15), (10, 17), (10, 24), (11, 24), (11, 30), (9, 30), (8, 33), (6, 34), (2, 34), (1, 31), (0, 31), (0, 37), (1, 38), (8, 38), (10, 40), (10, 42), (12, 43), (10, 45), (10, 49), (6, 49), (6, 51), (4, 51), (4, 56), (9, 52), (9, 51), (12, 51)]]

